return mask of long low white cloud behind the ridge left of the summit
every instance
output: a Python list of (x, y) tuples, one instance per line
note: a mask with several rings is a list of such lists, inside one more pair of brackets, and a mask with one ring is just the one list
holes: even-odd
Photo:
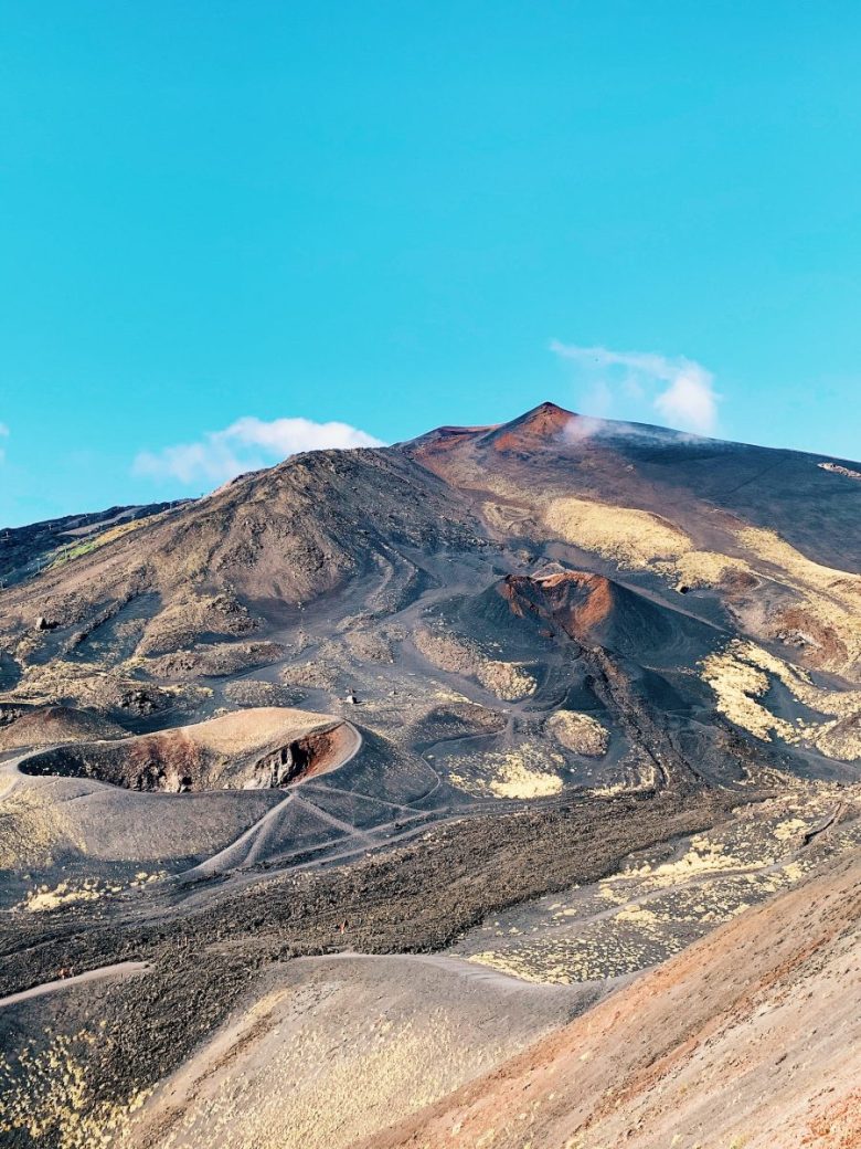
[(208, 431), (197, 442), (177, 444), (157, 453), (141, 452), (132, 463), (132, 472), (153, 479), (179, 479), (186, 485), (199, 480), (226, 483), (243, 471), (267, 466), (301, 450), (381, 446), (379, 439), (348, 423), (302, 418), (267, 423), (245, 415), (224, 431)]

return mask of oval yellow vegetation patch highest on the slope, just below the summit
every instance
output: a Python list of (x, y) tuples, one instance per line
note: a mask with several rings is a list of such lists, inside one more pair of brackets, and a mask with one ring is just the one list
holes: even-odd
[(585, 499), (556, 499), (545, 525), (567, 542), (594, 550), (620, 566), (643, 569), (693, 549), (690, 538), (658, 515)]

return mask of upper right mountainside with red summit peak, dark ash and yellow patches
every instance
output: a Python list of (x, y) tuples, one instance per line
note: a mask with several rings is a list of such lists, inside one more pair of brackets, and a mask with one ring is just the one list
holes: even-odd
[(621, 569), (662, 595), (691, 594), (690, 610), (718, 610), (791, 657), (861, 673), (861, 484), (822, 465), (835, 461), (550, 403), (403, 449), (468, 491), (509, 539), (569, 565)]

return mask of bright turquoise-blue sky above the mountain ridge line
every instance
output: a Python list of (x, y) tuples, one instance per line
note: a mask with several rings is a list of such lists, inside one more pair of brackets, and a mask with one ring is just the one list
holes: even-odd
[(861, 455), (856, 3), (2, 23), (0, 524), (544, 399)]

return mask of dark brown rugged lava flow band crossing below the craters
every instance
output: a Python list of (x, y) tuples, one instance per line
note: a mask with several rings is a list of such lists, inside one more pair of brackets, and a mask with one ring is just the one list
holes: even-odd
[[(747, 795), (752, 797), (753, 795)], [(210, 888), (194, 911), (123, 923), (61, 923), (0, 961), (11, 992), (85, 970), (146, 962), (144, 978), (113, 987), (104, 1041), (91, 1072), (118, 1104), (173, 1072), (220, 1025), (249, 979), (298, 955), (432, 951), (490, 910), (612, 871), (631, 849), (705, 828), (740, 795), (670, 794), (569, 801), (556, 808), (479, 816), (350, 866), (286, 874), (246, 889)]]

